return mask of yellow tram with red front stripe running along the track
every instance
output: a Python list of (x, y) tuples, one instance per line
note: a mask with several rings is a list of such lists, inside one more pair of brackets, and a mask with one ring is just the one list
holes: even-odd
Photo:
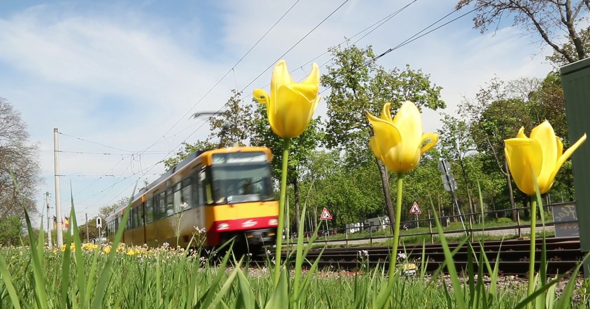
[[(278, 202), (273, 192), (272, 154), (266, 147), (197, 151), (140, 190), (122, 223), (122, 205), (106, 218), (109, 241), (126, 224), (126, 245), (216, 247), (274, 245)], [(178, 241), (178, 243), (177, 243)]]

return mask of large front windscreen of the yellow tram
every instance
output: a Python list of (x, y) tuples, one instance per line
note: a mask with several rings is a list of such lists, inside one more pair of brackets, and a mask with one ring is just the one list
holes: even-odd
[(216, 204), (256, 202), (273, 198), (270, 165), (219, 164), (211, 168)]

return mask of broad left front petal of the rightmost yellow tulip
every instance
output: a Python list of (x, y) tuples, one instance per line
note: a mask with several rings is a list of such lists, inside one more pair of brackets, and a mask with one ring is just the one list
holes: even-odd
[(510, 138), (504, 141), (504, 145), (508, 168), (516, 186), (527, 195), (535, 195), (533, 173), (539, 175), (543, 165), (543, 157), (539, 155), (539, 141), (532, 138)]

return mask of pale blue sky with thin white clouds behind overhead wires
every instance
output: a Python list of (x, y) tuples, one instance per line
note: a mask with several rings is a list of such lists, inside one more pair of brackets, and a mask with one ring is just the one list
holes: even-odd
[[(378, 28), (356, 35), (410, 3)], [(371, 30), (356, 44), (372, 45), (381, 54), (453, 11), (455, 3), (1, 1), (0, 97), (21, 112), (31, 141), (40, 144), (45, 183), (38, 208), (44, 211), (45, 192), (55, 206), (54, 128), (63, 151), (58, 152), (62, 212), (69, 212), (73, 195), (78, 221), (90, 218), (99, 207), (132, 195), (137, 181), (140, 188), (165, 172), (158, 162), (172, 157), (181, 142), (207, 137), (208, 123), (192, 114), (218, 111), (230, 89), (243, 89), (246, 99), (255, 88), (268, 90), (270, 67), (279, 59), (299, 80), (309, 74), (312, 59), (322, 65), (331, 58), (327, 48)], [(536, 38), (523, 37), (510, 23), (480, 34), (473, 16), (378, 61), (388, 69), (410, 64), (442, 87), (447, 108), (424, 111), (424, 131), (437, 130), (439, 112), (454, 113), (462, 96), (473, 97), (494, 76), (542, 78), (552, 69), (545, 63), (550, 51), (539, 54)], [(325, 113), (320, 101), (316, 114)]]

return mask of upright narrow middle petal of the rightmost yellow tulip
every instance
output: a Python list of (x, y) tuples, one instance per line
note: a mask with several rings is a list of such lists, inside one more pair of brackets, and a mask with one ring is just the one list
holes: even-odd
[(540, 155), (543, 158), (543, 164), (539, 174), (537, 175), (537, 182), (539, 183), (539, 191), (549, 191), (552, 181), (549, 178), (555, 170), (555, 164), (558, 160), (558, 144), (555, 140), (555, 131), (549, 124), (549, 121), (543, 121), (537, 127), (530, 131), (530, 138), (536, 139), (541, 147)]

